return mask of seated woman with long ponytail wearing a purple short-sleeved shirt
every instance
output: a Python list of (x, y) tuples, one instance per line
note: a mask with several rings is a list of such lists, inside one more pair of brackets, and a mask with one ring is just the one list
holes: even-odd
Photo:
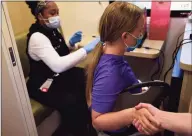
[[(100, 23), (100, 42), (93, 52), (88, 66), (87, 100), (92, 109), (92, 123), (106, 135), (128, 135), (126, 126), (133, 119), (143, 122), (146, 134), (158, 131), (158, 122), (147, 109), (135, 108), (113, 112), (115, 101), (121, 91), (138, 83), (123, 55), (142, 39), (144, 29), (143, 11), (128, 2), (113, 2), (104, 11)], [(139, 93), (141, 89), (131, 90)], [(122, 134), (123, 133), (123, 134)]]

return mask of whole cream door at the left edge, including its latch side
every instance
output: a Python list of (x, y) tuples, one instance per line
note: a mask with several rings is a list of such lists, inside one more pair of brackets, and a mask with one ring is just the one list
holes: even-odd
[(1, 8), (2, 135), (37, 136), (36, 125), (6, 2), (2, 2)]

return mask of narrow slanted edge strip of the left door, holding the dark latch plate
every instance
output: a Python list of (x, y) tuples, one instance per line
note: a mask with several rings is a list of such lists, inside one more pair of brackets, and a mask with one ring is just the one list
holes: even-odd
[[(4, 53), (12, 85), (14, 86), (14, 93), (16, 94), (19, 102), (19, 107), (25, 128), (28, 131), (29, 136), (37, 136), (37, 128), (34, 121), (30, 98), (28, 95), (26, 82), (20, 62), (19, 53), (7, 9), (6, 2), (1, 2), (2, 8), (2, 37), (4, 38), (4, 44), (2, 44), (2, 53)], [(12, 55), (10, 54), (12, 52)], [(13, 59), (14, 60), (13, 60)]]

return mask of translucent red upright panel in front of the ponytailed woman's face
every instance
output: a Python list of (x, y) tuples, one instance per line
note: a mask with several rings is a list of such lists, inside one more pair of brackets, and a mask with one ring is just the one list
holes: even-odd
[(149, 39), (165, 40), (169, 29), (171, 2), (152, 2)]

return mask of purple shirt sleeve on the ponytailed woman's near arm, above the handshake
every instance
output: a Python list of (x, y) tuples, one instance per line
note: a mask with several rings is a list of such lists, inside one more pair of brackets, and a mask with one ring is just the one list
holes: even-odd
[(116, 98), (122, 86), (118, 71), (109, 72), (100, 69), (95, 75), (92, 90), (92, 109), (99, 113), (107, 113), (113, 110)]

